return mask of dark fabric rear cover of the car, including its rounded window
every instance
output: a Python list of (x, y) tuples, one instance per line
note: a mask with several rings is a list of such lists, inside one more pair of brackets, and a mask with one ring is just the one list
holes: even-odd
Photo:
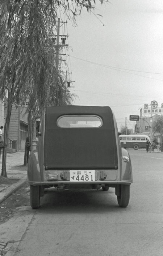
[(44, 165), (47, 169), (118, 167), (113, 114), (109, 107), (49, 107), (45, 124)]

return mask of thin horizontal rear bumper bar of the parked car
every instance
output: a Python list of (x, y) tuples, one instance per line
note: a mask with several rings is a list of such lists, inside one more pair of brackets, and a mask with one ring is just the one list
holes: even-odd
[(32, 181), (29, 181), (28, 180), (28, 183), (30, 185), (33, 185), (33, 186), (44, 186), (44, 185), (102, 185), (102, 184), (105, 184), (105, 185), (108, 185), (109, 184), (115, 184), (115, 185), (130, 185), (132, 183), (131, 180), (121, 180), (121, 181), (116, 181), (116, 180), (112, 180), (112, 181), (107, 181), (107, 180), (104, 180), (104, 181), (93, 181), (93, 182), (69, 182), (69, 181), (43, 181), (43, 182), (32, 182)]

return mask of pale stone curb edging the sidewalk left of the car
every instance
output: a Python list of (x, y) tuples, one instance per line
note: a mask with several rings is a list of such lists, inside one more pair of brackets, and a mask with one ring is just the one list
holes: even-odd
[(15, 191), (17, 191), (20, 187), (22, 187), (26, 183), (26, 180), (21, 180), (16, 184), (13, 184), (11, 187), (6, 188), (4, 191), (0, 193), (0, 203), (6, 200), (10, 195), (12, 195)]

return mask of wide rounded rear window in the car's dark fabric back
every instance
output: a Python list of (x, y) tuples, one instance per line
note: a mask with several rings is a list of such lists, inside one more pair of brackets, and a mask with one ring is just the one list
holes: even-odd
[(62, 115), (57, 119), (57, 125), (61, 128), (98, 128), (103, 121), (97, 115)]

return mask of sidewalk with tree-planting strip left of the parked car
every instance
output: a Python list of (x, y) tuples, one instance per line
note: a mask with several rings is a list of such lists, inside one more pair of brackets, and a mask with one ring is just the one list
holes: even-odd
[[(0, 160), (0, 175), (2, 168), (2, 153)], [(26, 182), (27, 166), (24, 166), (24, 151), (7, 154), (6, 171), (8, 182), (0, 183), (0, 203), (18, 190)], [(3, 178), (3, 177), (2, 177)], [(0, 176), (1, 179), (1, 176)], [(12, 184), (10, 184), (10, 182)]]

